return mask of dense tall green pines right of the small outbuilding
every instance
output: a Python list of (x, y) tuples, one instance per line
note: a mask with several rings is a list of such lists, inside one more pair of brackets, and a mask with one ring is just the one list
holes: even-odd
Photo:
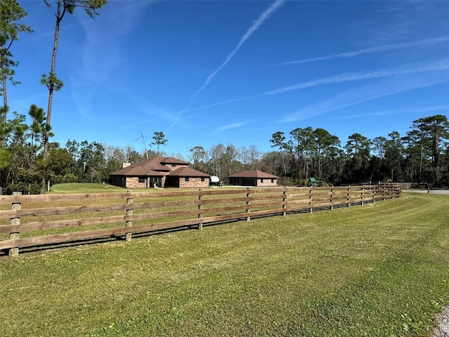
[(270, 140), (279, 151), (281, 176), (304, 183), (310, 177), (333, 184), (375, 181), (448, 184), (449, 123), (437, 114), (413, 121), (410, 131), (371, 139), (360, 133), (342, 145), (323, 128), (295, 128)]

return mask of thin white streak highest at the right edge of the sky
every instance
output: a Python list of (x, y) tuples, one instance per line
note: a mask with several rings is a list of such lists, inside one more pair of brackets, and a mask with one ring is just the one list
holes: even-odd
[(361, 49), (359, 51), (349, 51), (347, 53), (321, 56), (319, 58), (305, 58), (303, 60), (282, 62), (282, 63), (277, 63), (276, 65), (299, 65), (302, 63), (331, 60), (333, 58), (354, 58), (354, 56), (363, 55), (363, 54), (381, 53), (382, 51), (394, 51), (394, 50), (398, 50), (398, 49), (429, 46), (432, 44), (442, 44), (442, 43), (448, 42), (448, 41), (449, 41), (449, 37), (435, 37), (433, 39), (425, 39), (425, 40), (420, 40), (420, 41), (415, 41), (415, 42), (407, 42), (407, 43), (403, 43), (403, 44), (385, 44), (384, 46), (365, 48), (365, 49)]

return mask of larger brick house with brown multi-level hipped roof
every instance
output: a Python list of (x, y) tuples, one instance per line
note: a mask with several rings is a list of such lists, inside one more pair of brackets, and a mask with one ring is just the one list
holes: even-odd
[[(112, 185), (138, 187), (209, 187), (210, 176), (189, 169), (189, 163), (173, 157), (156, 157), (139, 163), (123, 163), (109, 175)], [(180, 170), (180, 171), (178, 171)]]

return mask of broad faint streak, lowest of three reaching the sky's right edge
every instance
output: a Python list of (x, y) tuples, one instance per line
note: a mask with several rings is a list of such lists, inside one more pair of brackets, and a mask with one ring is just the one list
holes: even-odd
[(427, 86), (434, 86), (449, 81), (449, 71), (429, 72), (424, 74), (408, 74), (402, 77), (391, 77), (382, 79), (374, 84), (368, 84), (349, 91), (344, 91), (339, 95), (333, 96), (329, 100), (309, 105), (300, 110), (297, 110), (281, 119), (283, 123), (290, 123), (292, 121), (301, 121), (311, 117), (319, 116), (340, 110), (344, 107), (350, 107), (377, 98), (396, 95), (406, 91), (411, 91), (417, 88), (425, 88)]

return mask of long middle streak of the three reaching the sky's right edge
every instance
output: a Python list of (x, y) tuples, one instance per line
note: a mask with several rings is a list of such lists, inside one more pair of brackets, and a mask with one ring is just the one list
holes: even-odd
[(315, 79), (313, 81), (302, 82), (299, 84), (293, 84), (292, 86), (283, 86), (281, 88), (265, 91), (263, 93), (257, 93), (255, 95), (246, 96), (243, 98), (233, 98), (231, 100), (225, 100), (222, 102), (213, 103), (210, 105), (203, 105), (202, 107), (195, 107), (186, 111), (203, 110), (209, 107), (215, 107), (218, 105), (226, 105), (230, 103), (241, 102), (243, 100), (250, 100), (253, 98), (259, 98), (262, 96), (278, 95), (280, 93), (287, 93), (288, 91), (300, 90), (304, 88), (312, 88), (314, 86), (322, 86), (326, 84), (337, 84), (351, 81), (361, 81), (364, 79), (380, 79), (382, 77), (394, 77), (407, 74), (413, 74), (418, 72), (436, 72), (439, 70), (449, 69), (449, 58), (438, 60), (436, 62), (430, 62), (427, 64), (415, 64), (408, 67), (400, 67), (394, 69), (377, 70), (374, 72), (351, 72), (344, 74), (337, 74), (335, 76), (323, 77), (321, 79)]

